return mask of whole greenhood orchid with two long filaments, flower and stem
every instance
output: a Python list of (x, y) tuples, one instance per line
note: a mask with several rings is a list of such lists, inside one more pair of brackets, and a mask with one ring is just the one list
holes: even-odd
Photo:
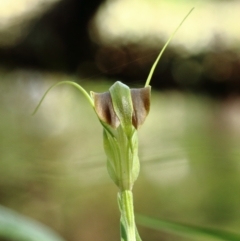
[(140, 170), (137, 130), (144, 123), (150, 110), (150, 80), (164, 50), (192, 10), (182, 20), (159, 53), (144, 88), (131, 89), (117, 81), (107, 92), (88, 94), (77, 83), (62, 81), (46, 91), (33, 112), (33, 114), (36, 113), (48, 92), (61, 84), (76, 87), (87, 98), (103, 126), (103, 145), (107, 156), (108, 173), (119, 188), (121, 241), (141, 241), (135, 225), (132, 188)]

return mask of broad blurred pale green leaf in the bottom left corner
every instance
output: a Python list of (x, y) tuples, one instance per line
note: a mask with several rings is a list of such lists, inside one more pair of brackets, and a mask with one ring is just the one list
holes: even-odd
[(47, 226), (0, 206), (0, 237), (18, 241), (65, 241)]

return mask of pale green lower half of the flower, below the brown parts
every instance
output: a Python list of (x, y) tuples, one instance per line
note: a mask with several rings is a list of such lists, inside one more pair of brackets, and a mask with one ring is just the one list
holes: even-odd
[(114, 130), (104, 122), (101, 123), (104, 127), (103, 144), (108, 173), (120, 190), (131, 190), (140, 169), (137, 131), (133, 129), (128, 139), (122, 126)]

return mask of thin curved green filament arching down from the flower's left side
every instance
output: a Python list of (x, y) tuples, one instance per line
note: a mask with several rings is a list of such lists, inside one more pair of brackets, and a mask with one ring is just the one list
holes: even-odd
[(38, 103), (38, 105), (36, 106), (35, 110), (33, 111), (32, 115), (36, 114), (36, 112), (38, 111), (39, 107), (41, 106), (43, 100), (45, 99), (46, 95), (49, 93), (50, 90), (52, 90), (54, 87), (58, 86), (58, 85), (62, 85), (62, 84), (69, 84), (69, 85), (73, 85), (74, 87), (76, 87), (86, 98), (87, 100), (90, 102), (90, 104), (92, 105), (92, 107), (94, 107), (94, 103), (93, 103), (93, 99), (90, 97), (90, 95), (87, 93), (87, 91), (85, 89), (83, 89), (82, 86), (80, 86), (79, 84), (73, 82), (73, 81), (61, 81), (58, 82), (54, 85), (52, 85), (43, 95), (42, 99), (40, 100), (40, 102)]

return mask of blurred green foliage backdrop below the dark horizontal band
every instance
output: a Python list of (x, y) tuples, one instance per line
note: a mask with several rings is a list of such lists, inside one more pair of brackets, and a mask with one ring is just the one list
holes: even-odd
[[(67, 240), (112, 240), (119, 237), (116, 188), (93, 110), (74, 88), (59, 86), (31, 117), (49, 85), (66, 78), (1, 71), (0, 203)], [(111, 83), (82, 85), (102, 92)], [(139, 131), (137, 213), (238, 232), (239, 101), (153, 92)], [(147, 228), (139, 232), (143, 240), (193, 240)]]

